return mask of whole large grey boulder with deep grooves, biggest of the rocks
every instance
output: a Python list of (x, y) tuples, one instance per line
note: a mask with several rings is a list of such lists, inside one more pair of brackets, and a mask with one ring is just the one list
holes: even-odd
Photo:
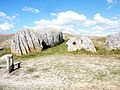
[(11, 43), (11, 52), (21, 56), (31, 52), (42, 51), (63, 41), (62, 32), (56, 30), (19, 30)]

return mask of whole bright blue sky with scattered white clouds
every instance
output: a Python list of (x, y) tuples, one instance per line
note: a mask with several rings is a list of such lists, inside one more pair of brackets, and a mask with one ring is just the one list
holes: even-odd
[(0, 34), (22, 28), (109, 35), (120, 31), (120, 0), (0, 0)]

